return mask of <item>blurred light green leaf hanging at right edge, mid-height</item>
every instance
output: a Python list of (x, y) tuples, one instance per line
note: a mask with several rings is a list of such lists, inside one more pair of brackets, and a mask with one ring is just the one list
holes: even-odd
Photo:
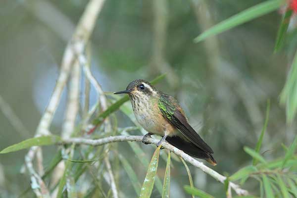
[(287, 122), (291, 123), (297, 111), (297, 52), (282, 90), (280, 102), (286, 104)]

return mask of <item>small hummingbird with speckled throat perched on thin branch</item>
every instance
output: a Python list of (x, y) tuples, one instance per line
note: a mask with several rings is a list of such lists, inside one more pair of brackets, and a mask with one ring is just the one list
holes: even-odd
[(132, 81), (126, 90), (114, 94), (129, 95), (136, 120), (148, 132), (143, 143), (146, 143), (145, 138), (159, 135), (162, 139), (157, 146), (166, 141), (193, 157), (216, 165), (213, 150), (191, 127), (184, 110), (172, 96), (156, 90), (142, 79)]

